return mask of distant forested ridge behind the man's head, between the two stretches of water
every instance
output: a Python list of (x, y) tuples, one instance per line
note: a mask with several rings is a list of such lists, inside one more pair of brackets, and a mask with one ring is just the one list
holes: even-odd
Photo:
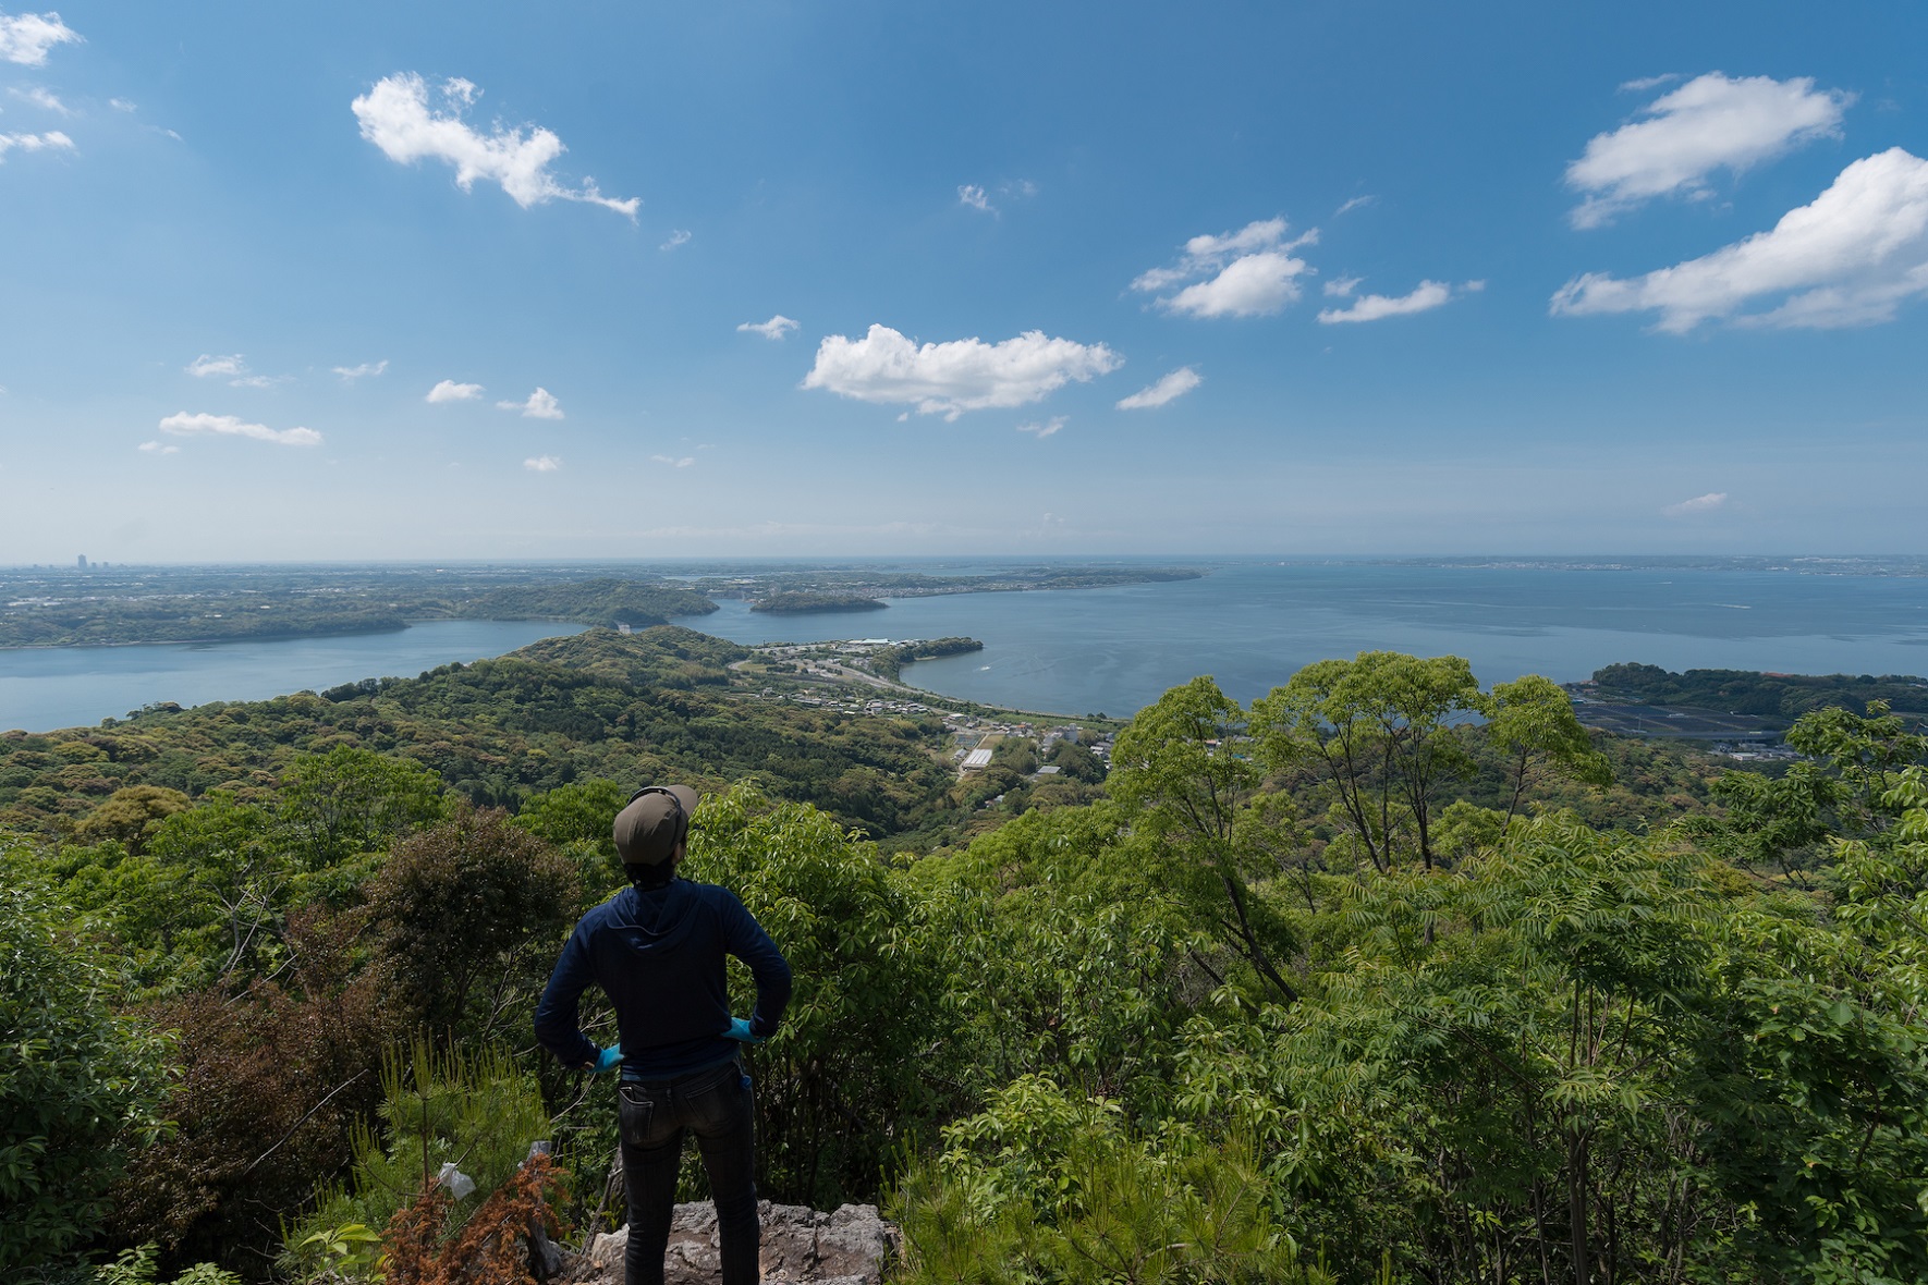
[[(519, 653), (274, 701), (150, 709), (114, 726), (0, 736), (0, 823), (127, 836), (148, 811), (224, 790), (272, 794), (301, 753), (372, 749), (432, 769), (478, 805), (576, 778), (756, 776), (873, 832), (943, 805), (941, 728), (727, 694), (740, 647), (677, 626), (594, 630)], [(147, 809), (147, 811), (143, 811)]]

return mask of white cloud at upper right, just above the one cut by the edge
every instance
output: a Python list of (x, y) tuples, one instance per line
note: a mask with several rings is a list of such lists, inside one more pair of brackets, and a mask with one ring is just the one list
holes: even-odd
[(1621, 210), (1666, 195), (1708, 197), (1716, 170), (1741, 173), (1803, 143), (1839, 135), (1841, 114), (1855, 100), (1816, 91), (1812, 77), (1695, 77), (1647, 104), (1648, 119), (1594, 135), (1567, 166), (1567, 187), (1587, 193), (1573, 208), (1575, 227), (1600, 227)]

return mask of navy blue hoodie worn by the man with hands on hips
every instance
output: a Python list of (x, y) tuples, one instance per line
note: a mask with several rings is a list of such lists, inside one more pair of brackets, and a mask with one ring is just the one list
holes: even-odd
[(596, 983), (615, 1006), (623, 1079), (669, 1079), (729, 1062), (723, 956), (756, 979), (750, 1033), (769, 1036), (790, 1002), (790, 965), (729, 888), (675, 879), (625, 888), (582, 917), (536, 1006), (536, 1038), (563, 1065), (596, 1060), (578, 1000)]

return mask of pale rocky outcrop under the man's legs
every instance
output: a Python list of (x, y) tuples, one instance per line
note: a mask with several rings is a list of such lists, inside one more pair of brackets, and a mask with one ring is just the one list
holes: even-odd
[[(846, 1204), (823, 1214), (800, 1204), (762, 1202), (765, 1285), (879, 1285), (885, 1264), (902, 1245), (873, 1204)], [(629, 1227), (600, 1235), (561, 1277), (569, 1285), (623, 1285)], [(663, 1260), (665, 1285), (721, 1279), (717, 1214), (708, 1200), (679, 1204)]]

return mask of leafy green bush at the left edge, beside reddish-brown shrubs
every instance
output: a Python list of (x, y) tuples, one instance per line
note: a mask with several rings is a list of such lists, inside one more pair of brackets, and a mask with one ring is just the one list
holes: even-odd
[(129, 1152), (166, 1125), (168, 1042), (114, 1011), (102, 954), (8, 853), (0, 884), (0, 1272), (94, 1235)]

